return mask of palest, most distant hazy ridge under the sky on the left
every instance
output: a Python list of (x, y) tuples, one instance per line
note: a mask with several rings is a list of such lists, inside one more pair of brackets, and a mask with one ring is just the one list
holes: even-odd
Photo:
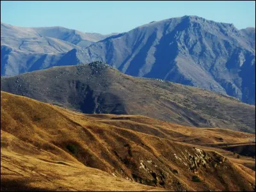
[(112, 35), (116, 33), (82, 33), (62, 27), (21, 28), (1, 22), (1, 45), (27, 52), (67, 52), (74, 48), (88, 47)]

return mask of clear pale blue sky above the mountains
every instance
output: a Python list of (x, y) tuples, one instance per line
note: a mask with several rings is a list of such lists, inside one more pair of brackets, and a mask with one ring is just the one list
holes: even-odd
[(1, 1), (1, 22), (122, 33), (151, 21), (196, 15), (237, 29), (255, 27), (255, 1)]

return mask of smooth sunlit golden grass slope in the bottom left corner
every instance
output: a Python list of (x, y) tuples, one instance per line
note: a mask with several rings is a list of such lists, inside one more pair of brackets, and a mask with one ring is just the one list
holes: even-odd
[[(11, 134), (1, 134), (2, 143), (10, 139), (13, 139)], [(18, 139), (14, 142), (15, 147), (19, 143), (40, 153), (37, 148)], [(4, 162), (1, 165), (1, 191), (164, 191), (113, 177), (78, 162), (65, 161), (49, 152), (42, 153), (42, 158), (36, 158), (28, 153), (1, 149), (1, 163)]]

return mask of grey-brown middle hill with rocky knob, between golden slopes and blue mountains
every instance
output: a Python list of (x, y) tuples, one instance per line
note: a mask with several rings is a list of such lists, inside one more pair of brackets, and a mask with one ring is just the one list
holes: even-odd
[(192, 86), (127, 76), (100, 62), (1, 77), (1, 90), (83, 113), (255, 132), (255, 106)]

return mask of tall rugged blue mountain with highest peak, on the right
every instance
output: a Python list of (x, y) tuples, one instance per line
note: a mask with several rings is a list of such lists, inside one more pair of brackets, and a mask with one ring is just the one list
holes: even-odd
[[(253, 41), (254, 38), (254, 41)], [(255, 104), (255, 30), (196, 16), (152, 22), (86, 48), (131, 76), (198, 86)]]

